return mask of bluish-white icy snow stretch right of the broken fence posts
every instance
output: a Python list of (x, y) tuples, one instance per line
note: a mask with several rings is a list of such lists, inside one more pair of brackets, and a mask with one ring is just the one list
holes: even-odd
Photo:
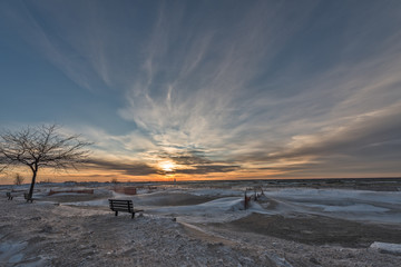
[(400, 191), (285, 188), (265, 190), (277, 214), (316, 214), (361, 221), (398, 224), (401, 220)]

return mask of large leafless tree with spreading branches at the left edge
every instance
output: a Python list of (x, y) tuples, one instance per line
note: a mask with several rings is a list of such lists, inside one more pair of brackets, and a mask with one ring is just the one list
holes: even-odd
[(61, 135), (58, 129), (57, 125), (43, 125), (0, 135), (0, 169), (28, 166), (32, 171), (30, 198), (39, 169), (77, 169), (89, 155), (85, 148), (90, 142), (82, 141), (77, 135)]

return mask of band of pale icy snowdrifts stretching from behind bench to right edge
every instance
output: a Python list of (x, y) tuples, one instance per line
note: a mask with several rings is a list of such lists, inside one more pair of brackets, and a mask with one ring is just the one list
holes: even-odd
[[(246, 210), (244, 209), (244, 191), (229, 188), (163, 188), (135, 196), (110, 189), (97, 189), (95, 192), (104, 195), (104, 198), (63, 205), (108, 207), (108, 198), (131, 199), (136, 208), (145, 209), (147, 214), (182, 217), (193, 222), (227, 221), (251, 212), (283, 216), (294, 212), (313, 214), (382, 224), (397, 224), (401, 218), (400, 191), (312, 188), (264, 190), (265, 197), (262, 198), (262, 202), (251, 201)], [(250, 195), (252, 192), (248, 192)], [(189, 205), (194, 200), (198, 204)], [(271, 205), (272, 202), (275, 205)]]

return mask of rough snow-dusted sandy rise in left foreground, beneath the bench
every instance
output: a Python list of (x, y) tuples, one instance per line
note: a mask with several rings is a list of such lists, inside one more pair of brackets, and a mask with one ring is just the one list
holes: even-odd
[(1, 266), (275, 266), (169, 218), (17, 201), (4, 201), (1, 214)]

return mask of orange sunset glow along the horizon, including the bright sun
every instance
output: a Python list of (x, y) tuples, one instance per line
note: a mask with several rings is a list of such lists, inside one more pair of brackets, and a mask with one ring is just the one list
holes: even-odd
[[(339, 174), (314, 174), (314, 175), (295, 175), (291, 169), (281, 170), (253, 169), (250, 166), (245, 169), (234, 170), (229, 172), (208, 172), (208, 174), (183, 174), (179, 170), (185, 166), (176, 165), (169, 160), (163, 160), (155, 166), (159, 172), (136, 175), (134, 171), (118, 170), (118, 169), (99, 169), (99, 168), (82, 168), (79, 170), (69, 170), (68, 172), (55, 172), (51, 169), (41, 169), (38, 174), (37, 181), (88, 181), (88, 182), (110, 182), (117, 179), (119, 182), (151, 182), (151, 181), (195, 181), (195, 180), (248, 180), (248, 179), (314, 179), (314, 178), (375, 178), (384, 177), (382, 174), (359, 174), (359, 175), (339, 175)], [(25, 184), (30, 184), (31, 172), (25, 167), (17, 167), (8, 174), (0, 176), (0, 185), (12, 185), (14, 175), (19, 174), (25, 178)], [(385, 177), (390, 177), (387, 175)], [(398, 174), (392, 174), (391, 177), (399, 177)]]

